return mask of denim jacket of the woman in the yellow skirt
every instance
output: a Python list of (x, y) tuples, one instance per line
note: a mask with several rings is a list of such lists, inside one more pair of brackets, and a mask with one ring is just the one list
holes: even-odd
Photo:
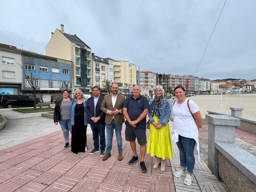
[[(152, 123), (154, 121), (153, 116), (151, 114), (151, 110), (152, 110), (152, 105), (153, 105), (153, 100), (150, 101), (149, 104), (149, 112), (148, 112), (148, 117), (149, 117), (149, 122)], [(159, 124), (163, 124), (166, 125), (168, 123), (168, 120), (170, 118), (171, 115), (171, 106), (170, 106), (170, 102), (169, 100), (167, 100), (166, 98), (164, 98), (164, 103), (162, 106), (162, 114), (160, 116), (160, 118), (158, 118), (158, 123)]]

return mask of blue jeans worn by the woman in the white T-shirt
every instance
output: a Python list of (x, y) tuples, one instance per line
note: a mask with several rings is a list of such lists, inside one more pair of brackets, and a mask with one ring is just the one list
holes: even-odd
[(180, 166), (187, 168), (188, 173), (193, 173), (195, 166), (195, 156), (193, 154), (196, 144), (195, 139), (179, 135), (179, 141), (176, 144), (180, 150)]

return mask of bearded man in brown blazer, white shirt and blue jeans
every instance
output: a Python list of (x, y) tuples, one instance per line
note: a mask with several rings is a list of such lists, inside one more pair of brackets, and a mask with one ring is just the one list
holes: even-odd
[(116, 141), (118, 148), (118, 160), (123, 159), (122, 149), (122, 126), (124, 122), (123, 106), (125, 102), (125, 96), (118, 93), (118, 84), (112, 83), (112, 93), (106, 95), (101, 103), (100, 110), (106, 113), (105, 123), (107, 130), (107, 151), (102, 161), (107, 160), (111, 156), (112, 140), (114, 129), (116, 132)]

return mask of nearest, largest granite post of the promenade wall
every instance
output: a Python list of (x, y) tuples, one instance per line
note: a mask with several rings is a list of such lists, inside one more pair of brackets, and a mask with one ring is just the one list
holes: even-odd
[(240, 126), (240, 119), (229, 115), (205, 115), (208, 121), (208, 167), (218, 175), (218, 150), (215, 142), (234, 143), (235, 127)]

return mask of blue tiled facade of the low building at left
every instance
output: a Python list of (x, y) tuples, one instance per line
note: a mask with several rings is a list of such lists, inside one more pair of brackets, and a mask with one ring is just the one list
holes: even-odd
[[(34, 65), (35, 70), (25, 69), (26, 64)], [(39, 71), (39, 66), (48, 67), (48, 72)], [(58, 89), (58, 90), (53, 90), (53, 89), (50, 90), (49, 89), (51, 92), (52, 91), (53, 92), (54, 91), (60, 91), (61, 86), (62, 86), (61, 82), (63, 82), (63, 81), (72, 83), (72, 75), (73, 75), (72, 64), (60, 63), (60, 62), (55, 62), (55, 61), (51, 61), (51, 60), (45, 60), (45, 59), (40, 59), (40, 58), (35, 58), (35, 57), (29, 57), (29, 56), (22, 55), (22, 68), (23, 68), (23, 72), (25, 71), (25, 74), (28, 75), (28, 76), (30, 76), (31, 75), (30, 72), (32, 72), (32, 75), (35, 79), (38, 79), (38, 80), (57, 80), (57, 81), (59, 81), (60, 89)], [(59, 73), (53, 73), (52, 68), (59, 68)], [(69, 74), (63, 74), (62, 69), (69, 70)], [(24, 91), (32, 90), (31, 87), (26, 87), (25, 86), (25, 79), (26, 79), (26, 77), (23, 74), (23, 90)], [(73, 87), (73, 85), (71, 85), (71, 88), (69, 88), (69, 90), (72, 90), (72, 87)], [(39, 87), (36, 87), (36, 91), (40, 91), (40, 82), (39, 82)]]

